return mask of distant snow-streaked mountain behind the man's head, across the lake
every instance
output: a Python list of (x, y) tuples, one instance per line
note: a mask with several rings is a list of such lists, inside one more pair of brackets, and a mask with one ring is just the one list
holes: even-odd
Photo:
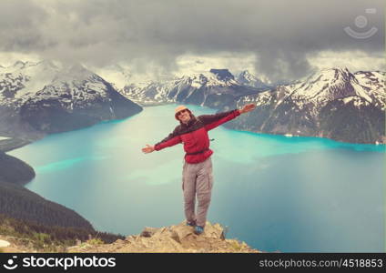
[(243, 86), (228, 69), (179, 76), (163, 82), (147, 81), (125, 86), (123, 94), (141, 105), (186, 103), (221, 107), (238, 96), (259, 93), (261, 89)]

